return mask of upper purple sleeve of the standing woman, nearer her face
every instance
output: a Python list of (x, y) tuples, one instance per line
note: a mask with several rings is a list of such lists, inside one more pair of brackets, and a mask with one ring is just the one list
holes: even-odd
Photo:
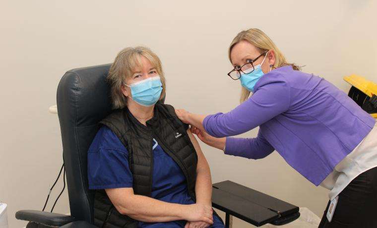
[(206, 116), (203, 127), (215, 137), (242, 134), (287, 111), (290, 96), (290, 87), (284, 81), (268, 83), (229, 113)]

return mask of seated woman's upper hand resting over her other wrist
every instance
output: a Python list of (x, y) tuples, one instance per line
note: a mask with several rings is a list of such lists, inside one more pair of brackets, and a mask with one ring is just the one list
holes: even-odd
[(188, 222), (202, 221), (208, 224), (213, 224), (213, 209), (210, 205), (205, 204), (189, 204), (186, 205), (184, 212), (185, 220)]

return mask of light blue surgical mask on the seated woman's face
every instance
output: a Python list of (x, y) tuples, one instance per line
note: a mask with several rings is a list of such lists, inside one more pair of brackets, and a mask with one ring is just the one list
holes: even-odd
[(131, 99), (142, 106), (156, 104), (162, 92), (160, 76), (150, 77), (126, 86), (131, 88)]

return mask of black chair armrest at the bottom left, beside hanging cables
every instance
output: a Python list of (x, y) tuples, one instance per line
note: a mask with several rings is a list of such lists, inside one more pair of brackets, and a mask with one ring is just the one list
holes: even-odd
[(67, 223), (76, 221), (74, 217), (71, 217), (69, 215), (62, 215), (58, 213), (50, 213), (36, 210), (18, 211), (16, 212), (16, 219), (56, 227), (60, 227)]

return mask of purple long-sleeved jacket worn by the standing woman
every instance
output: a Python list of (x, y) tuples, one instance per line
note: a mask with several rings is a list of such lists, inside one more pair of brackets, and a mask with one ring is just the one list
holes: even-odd
[[(264, 74), (253, 95), (228, 113), (208, 115), (205, 130), (227, 137), (225, 154), (260, 159), (276, 150), (319, 185), (372, 130), (375, 119), (313, 74), (283, 66)], [(259, 126), (256, 138), (234, 138)]]

